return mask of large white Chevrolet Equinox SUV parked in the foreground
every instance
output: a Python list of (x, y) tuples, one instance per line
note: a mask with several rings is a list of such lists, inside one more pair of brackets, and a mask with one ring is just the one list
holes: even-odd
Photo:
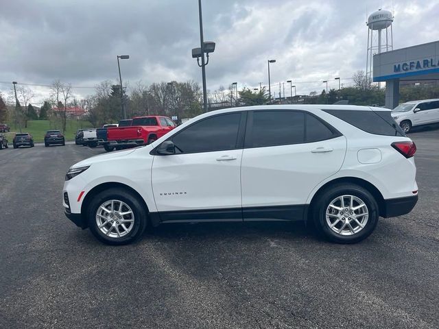
[(191, 119), (151, 145), (69, 169), (65, 213), (100, 241), (130, 243), (147, 225), (312, 221), (337, 243), (418, 200), (416, 146), (390, 110), (253, 106)]

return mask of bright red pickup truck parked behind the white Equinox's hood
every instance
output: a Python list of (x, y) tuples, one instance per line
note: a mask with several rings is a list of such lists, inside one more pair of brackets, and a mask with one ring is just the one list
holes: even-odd
[(175, 127), (174, 121), (167, 117), (156, 115), (134, 117), (130, 126), (107, 128), (104, 148), (106, 151), (112, 151), (150, 144)]

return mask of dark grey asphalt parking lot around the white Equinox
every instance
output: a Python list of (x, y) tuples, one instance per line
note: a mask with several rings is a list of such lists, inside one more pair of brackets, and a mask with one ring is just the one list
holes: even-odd
[(439, 128), (419, 202), (357, 245), (301, 223), (168, 224), (110, 247), (62, 209), (75, 145), (0, 151), (0, 328), (439, 328)]

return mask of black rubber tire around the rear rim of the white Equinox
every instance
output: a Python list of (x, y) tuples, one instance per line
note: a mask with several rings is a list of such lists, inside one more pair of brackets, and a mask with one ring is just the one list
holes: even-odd
[[(354, 197), (361, 199), (361, 201), (366, 204), (366, 209), (368, 210), (368, 219), (366, 225), (364, 226), (364, 228), (362, 228), (353, 235), (338, 234), (337, 232), (334, 232), (327, 223), (326, 213), (327, 208), (329, 208), (329, 204), (331, 204), (331, 202), (333, 202), (333, 200), (335, 200), (337, 197), (340, 197), (342, 195), (353, 195)], [(329, 241), (333, 241), (335, 243), (357, 243), (366, 239), (377, 227), (379, 209), (377, 201), (372, 196), (372, 194), (370, 194), (370, 192), (367, 191), (365, 188), (356, 184), (337, 184), (334, 186), (330, 186), (325, 191), (320, 193), (320, 195), (318, 195), (318, 200), (315, 206), (313, 206), (313, 215), (316, 228), (318, 229), (320, 234), (322, 234)], [(347, 215), (346, 217), (348, 216), (350, 215)], [(335, 222), (336, 219), (333, 219), (333, 221)], [(342, 223), (343, 221), (340, 221), (340, 224), (337, 225), (342, 226)], [(357, 226), (354, 221), (352, 221), (352, 223), (353, 226)], [(338, 229), (337, 226), (335, 226), (335, 228)]]

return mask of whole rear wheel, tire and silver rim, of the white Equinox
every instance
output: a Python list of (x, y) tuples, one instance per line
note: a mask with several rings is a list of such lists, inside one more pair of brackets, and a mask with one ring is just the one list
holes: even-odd
[(340, 184), (320, 195), (314, 212), (318, 230), (336, 243), (357, 243), (366, 239), (378, 223), (375, 198), (361, 186)]

